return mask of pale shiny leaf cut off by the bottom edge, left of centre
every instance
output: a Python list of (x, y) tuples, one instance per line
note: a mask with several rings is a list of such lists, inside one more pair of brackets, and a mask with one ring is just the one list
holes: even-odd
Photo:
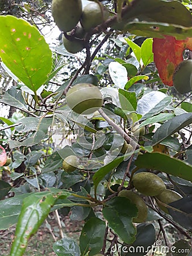
[(53, 243), (53, 251), (57, 256), (81, 256), (78, 243), (67, 237)]

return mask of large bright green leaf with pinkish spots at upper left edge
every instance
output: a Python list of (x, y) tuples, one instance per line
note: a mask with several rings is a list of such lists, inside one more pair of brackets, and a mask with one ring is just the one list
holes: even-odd
[[(0, 56), (28, 88), (36, 92), (52, 68), (52, 52), (35, 26), (14, 16), (0, 16)], [(46, 68), (45, 68), (46, 67)]]

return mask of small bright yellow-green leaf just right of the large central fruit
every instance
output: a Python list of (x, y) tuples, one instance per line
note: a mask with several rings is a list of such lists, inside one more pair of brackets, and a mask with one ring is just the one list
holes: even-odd
[(119, 89), (119, 101), (123, 110), (134, 111), (137, 108), (135, 92)]

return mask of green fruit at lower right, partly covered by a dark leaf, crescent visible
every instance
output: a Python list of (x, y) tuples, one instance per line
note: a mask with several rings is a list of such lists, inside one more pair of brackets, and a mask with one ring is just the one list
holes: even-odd
[(122, 190), (118, 193), (118, 196), (127, 197), (130, 201), (136, 205), (138, 209), (138, 215), (136, 218), (133, 218), (133, 222), (141, 223), (145, 222), (147, 219), (147, 205), (144, 200), (141, 199), (139, 195), (132, 191)]

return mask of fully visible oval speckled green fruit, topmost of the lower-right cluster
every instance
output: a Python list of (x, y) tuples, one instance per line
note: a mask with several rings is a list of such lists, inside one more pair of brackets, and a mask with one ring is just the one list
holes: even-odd
[(133, 175), (133, 186), (146, 196), (157, 196), (165, 190), (164, 181), (151, 172), (139, 172)]

